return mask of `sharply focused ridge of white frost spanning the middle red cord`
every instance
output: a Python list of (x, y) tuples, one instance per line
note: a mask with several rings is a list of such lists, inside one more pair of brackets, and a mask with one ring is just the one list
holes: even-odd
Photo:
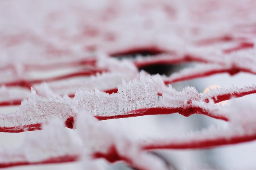
[[(31, 89), (31, 96), (24, 99), (15, 113), (2, 114), (0, 127), (16, 127), (30, 124), (47, 122), (51, 117), (58, 117), (65, 121), (68, 117), (76, 116), (81, 109), (87, 110), (95, 116), (116, 116), (130, 114), (132, 110), (141, 108), (190, 108), (199, 107), (208, 115), (219, 115), (212, 104), (212, 99), (219, 100), (222, 96), (243, 96), (256, 92), (256, 86), (245, 86), (244, 88), (219, 88), (210, 90), (208, 93), (198, 93), (194, 87), (185, 87), (182, 91), (176, 91), (172, 86), (164, 86), (159, 75), (146, 75), (141, 73), (140, 79), (130, 82), (123, 80), (118, 86), (118, 93), (108, 94), (97, 89), (88, 91), (80, 88), (75, 93), (74, 99), (64, 95), (63, 97), (54, 93), (47, 84), (40, 86), (36, 94)], [(158, 83), (156, 84), (155, 81)], [(158, 99), (158, 91), (163, 91)], [(6, 91), (2, 88), (2, 91)], [(229, 98), (227, 98), (229, 99)], [(207, 104), (207, 100), (209, 103)], [(223, 99), (220, 98), (220, 102)], [(221, 114), (220, 114), (221, 115)], [(8, 120), (8, 121), (7, 121)]]

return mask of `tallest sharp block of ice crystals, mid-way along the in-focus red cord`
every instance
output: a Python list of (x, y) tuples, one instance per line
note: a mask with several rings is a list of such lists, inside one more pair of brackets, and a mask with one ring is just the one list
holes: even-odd
[(117, 94), (107, 94), (97, 89), (76, 92), (74, 101), (79, 108), (85, 108), (93, 115), (110, 116), (125, 114), (139, 108), (155, 107), (158, 103), (157, 86), (150, 76), (141, 74), (140, 80), (124, 82)]

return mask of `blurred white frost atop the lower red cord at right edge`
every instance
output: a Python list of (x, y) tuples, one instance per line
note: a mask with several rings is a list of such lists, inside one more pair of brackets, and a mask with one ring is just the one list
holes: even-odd
[[(202, 129), (200, 131), (191, 132), (188, 135), (181, 135), (180, 137), (166, 138), (162, 137), (159, 139), (151, 139), (148, 140), (146, 145), (171, 145), (173, 147), (178, 145), (192, 145), (204, 142), (207, 140), (216, 140), (225, 139), (227, 141), (231, 140), (231, 138), (236, 137), (248, 137), (254, 136), (256, 134), (256, 126), (255, 126), (255, 114), (254, 109), (255, 106), (253, 102), (242, 100), (246, 104), (239, 107), (234, 107), (238, 105), (238, 102), (231, 102), (229, 106), (211, 106), (207, 108), (204, 105), (204, 108), (211, 109), (215, 111), (217, 114), (223, 114), (230, 117), (230, 121), (228, 126), (220, 127), (220, 126), (209, 126), (209, 128)], [(200, 105), (199, 103), (197, 103)], [(144, 145), (144, 144), (143, 144)]]

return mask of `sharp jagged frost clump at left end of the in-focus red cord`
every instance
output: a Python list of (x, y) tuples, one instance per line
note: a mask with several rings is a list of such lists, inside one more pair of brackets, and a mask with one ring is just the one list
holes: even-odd
[(76, 107), (72, 100), (67, 97), (45, 98), (36, 94), (31, 88), (31, 95), (24, 99), (16, 112), (1, 114), (1, 131), (21, 132), (40, 128), (40, 124), (47, 122), (50, 118), (58, 118), (65, 121), (74, 116)]

